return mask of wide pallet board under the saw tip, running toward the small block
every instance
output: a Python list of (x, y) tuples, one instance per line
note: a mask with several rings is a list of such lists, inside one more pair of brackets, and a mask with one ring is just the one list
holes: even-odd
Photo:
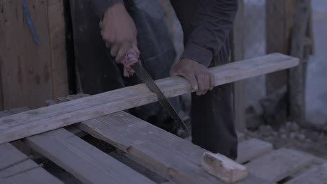
[(84, 121), (77, 126), (125, 151), (130, 158), (170, 181), (222, 183), (201, 168), (204, 149), (126, 112)]

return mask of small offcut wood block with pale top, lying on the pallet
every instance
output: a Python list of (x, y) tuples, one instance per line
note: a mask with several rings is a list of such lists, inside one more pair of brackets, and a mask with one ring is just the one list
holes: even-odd
[(223, 155), (210, 152), (203, 153), (201, 167), (225, 183), (241, 181), (248, 175), (246, 167)]

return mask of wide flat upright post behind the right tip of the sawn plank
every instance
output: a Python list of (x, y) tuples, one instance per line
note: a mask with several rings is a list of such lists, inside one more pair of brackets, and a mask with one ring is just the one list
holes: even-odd
[[(290, 54), (291, 29), (294, 22), (296, 0), (273, 0), (266, 1), (266, 52), (267, 54), (280, 52)], [(283, 70), (266, 76), (267, 95), (271, 95), (283, 89), (288, 84), (289, 71)], [(266, 114), (266, 118), (272, 119), (271, 123), (286, 123), (288, 114), (288, 100), (286, 93), (284, 98), (272, 105), (278, 105), (275, 112)], [(270, 107), (266, 107), (271, 109)]]

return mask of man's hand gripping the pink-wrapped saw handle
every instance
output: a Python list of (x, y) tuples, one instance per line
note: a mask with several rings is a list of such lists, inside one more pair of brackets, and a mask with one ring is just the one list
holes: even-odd
[(110, 54), (121, 63), (126, 52), (133, 48), (140, 54), (136, 40), (136, 26), (123, 3), (115, 3), (103, 14), (101, 35), (110, 48)]

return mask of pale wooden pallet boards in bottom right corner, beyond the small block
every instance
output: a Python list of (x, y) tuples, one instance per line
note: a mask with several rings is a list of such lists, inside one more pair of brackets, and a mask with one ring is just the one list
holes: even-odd
[(260, 178), (275, 183), (327, 183), (327, 161), (288, 148), (273, 150), (259, 139), (241, 141), (238, 162)]

